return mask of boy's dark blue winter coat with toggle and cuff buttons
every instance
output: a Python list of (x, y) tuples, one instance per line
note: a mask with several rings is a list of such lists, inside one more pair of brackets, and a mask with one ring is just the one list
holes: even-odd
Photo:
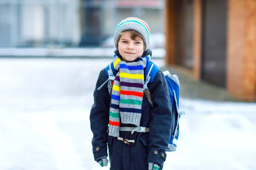
[[(120, 58), (119, 53), (116, 53)], [(144, 56), (147, 54), (145, 53)], [(101, 90), (97, 90), (108, 77), (105, 69), (99, 73), (96, 88), (93, 93), (94, 104), (90, 112), (90, 126), (93, 132), (93, 155), (97, 160), (108, 156), (111, 170), (148, 170), (148, 162), (157, 163), (163, 168), (166, 160), (165, 150), (168, 147), (170, 129), (172, 126), (172, 110), (169, 100), (169, 91), (162, 71), (158, 71), (148, 90), (154, 102), (154, 108), (143, 96), (142, 115), (140, 126), (149, 127), (148, 133), (120, 131), (119, 136), (128, 140), (135, 140), (130, 145), (125, 144), (117, 137), (108, 136), (109, 108), (111, 95), (108, 93), (108, 83)], [(131, 124), (122, 124), (120, 127), (135, 127)]]

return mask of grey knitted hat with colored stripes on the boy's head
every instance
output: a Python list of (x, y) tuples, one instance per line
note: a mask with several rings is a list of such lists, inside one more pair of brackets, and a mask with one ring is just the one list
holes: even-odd
[(118, 24), (116, 27), (116, 32), (114, 35), (114, 43), (115, 47), (117, 48), (118, 40), (120, 38), (120, 34), (127, 30), (134, 30), (141, 34), (143, 37), (143, 41), (145, 44), (145, 50), (149, 47), (149, 33), (150, 29), (147, 23), (145, 21), (140, 20), (138, 18), (129, 17), (121, 21), (121, 23)]

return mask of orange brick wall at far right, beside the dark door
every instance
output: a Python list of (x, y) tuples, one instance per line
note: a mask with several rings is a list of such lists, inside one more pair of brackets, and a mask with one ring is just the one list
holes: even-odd
[(241, 100), (256, 100), (256, 0), (229, 0), (227, 91)]

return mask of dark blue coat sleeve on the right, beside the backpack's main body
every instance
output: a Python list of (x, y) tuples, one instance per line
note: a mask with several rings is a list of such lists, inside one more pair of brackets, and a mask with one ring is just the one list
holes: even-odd
[(148, 136), (148, 163), (153, 162), (163, 167), (166, 160), (172, 128), (172, 106), (169, 90), (162, 71), (158, 71), (151, 86), (148, 86), (154, 108), (150, 113), (150, 132)]

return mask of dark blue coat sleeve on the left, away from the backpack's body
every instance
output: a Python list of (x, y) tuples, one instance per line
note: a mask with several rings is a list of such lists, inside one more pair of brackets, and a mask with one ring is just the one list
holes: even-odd
[(96, 87), (93, 93), (94, 103), (90, 111), (90, 127), (93, 132), (93, 156), (97, 160), (108, 156), (107, 153), (107, 138), (108, 138), (108, 123), (109, 123), (109, 102), (110, 95), (108, 93), (108, 83), (100, 90), (97, 90), (108, 77), (105, 75), (105, 70), (99, 73)]

